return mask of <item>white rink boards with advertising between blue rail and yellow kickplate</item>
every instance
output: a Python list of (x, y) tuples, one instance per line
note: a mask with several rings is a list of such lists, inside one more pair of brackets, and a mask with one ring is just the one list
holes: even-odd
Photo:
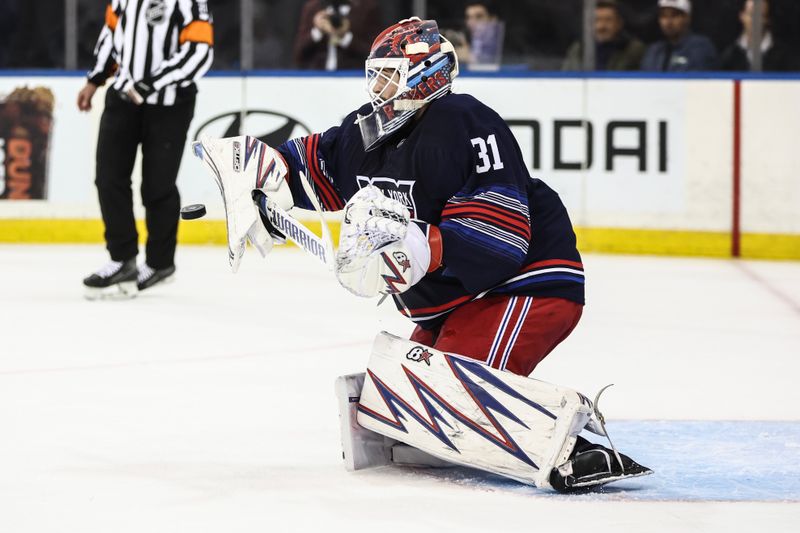
[[(56, 95), (50, 199), (2, 202), (0, 218), (98, 217), (94, 149), (103, 94), (101, 89), (95, 95), (90, 114), (78, 113), (75, 99), (82, 83), (78, 77), (0, 77), (0, 94), (20, 85), (45, 85)], [(743, 81), (742, 86), (744, 230), (800, 232), (800, 210), (795, 208), (800, 156), (791, 144), (800, 133), (800, 100), (795, 97), (800, 83)], [(732, 81), (463, 78), (457, 80), (456, 90), (475, 95), (504, 119), (517, 121), (512, 130), (531, 174), (559, 192), (577, 225), (730, 229)], [(359, 77), (207, 77), (200, 82), (189, 135), (196, 135), (201, 126), (208, 134), (223, 135), (243, 109), (250, 111), (244, 130), (258, 136), (290, 123), (295, 126), (287, 130), (291, 136), (324, 131), (339, 124), (365, 97)], [(584, 119), (593, 133), (588, 168), (586, 130), (575, 124)], [(562, 126), (561, 150), (556, 153), (559, 121), (567, 125)], [(637, 157), (607, 154), (609, 145), (639, 145), (640, 130), (631, 127), (616, 129), (609, 142), (609, 124), (620, 121), (643, 128), (644, 170)], [(579, 168), (559, 168), (557, 159)], [(613, 170), (608, 170), (609, 160)], [(134, 184), (138, 183), (135, 172)], [(209, 218), (223, 216), (216, 186), (188, 145), (178, 183), (184, 203), (205, 203)], [(142, 214), (140, 206), (137, 213)]]

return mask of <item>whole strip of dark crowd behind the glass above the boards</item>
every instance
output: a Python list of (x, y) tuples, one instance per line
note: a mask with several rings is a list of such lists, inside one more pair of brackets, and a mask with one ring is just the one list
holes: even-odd
[[(361, 69), (378, 31), (423, 9), (468, 70), (800, 71), (798, 0), (584, 1), (209, 0), (213, 69)], [(2, 0), (0, 69), (67, 68), (65, 43), (90, 68), (106, 3)]]

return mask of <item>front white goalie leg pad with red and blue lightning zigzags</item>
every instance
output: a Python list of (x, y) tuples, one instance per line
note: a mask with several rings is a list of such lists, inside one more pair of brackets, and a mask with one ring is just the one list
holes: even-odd
[(580, 393), (388, 333), (375, 340), (358, 424), (434, 457), (538, 487), (589, 421)]

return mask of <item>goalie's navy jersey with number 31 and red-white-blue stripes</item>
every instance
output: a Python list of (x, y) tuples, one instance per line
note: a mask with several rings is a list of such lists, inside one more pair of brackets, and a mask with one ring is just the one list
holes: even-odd
[(295, 205), (312, 209), (302, 171), (326, 210), (372, 184), (423, 227), (438, 226), (442, 266), (394, 295), (401, 313), (436, 328), (455, 308), (487, 295), (561, 297), (584, 303), (575, 233), (558, 195), (532, 178), (500, 116), (466, 94), (448, 94), (416, 121), (365, 152), (348, 115), (341, 126), (292, 139), (278, 151)]

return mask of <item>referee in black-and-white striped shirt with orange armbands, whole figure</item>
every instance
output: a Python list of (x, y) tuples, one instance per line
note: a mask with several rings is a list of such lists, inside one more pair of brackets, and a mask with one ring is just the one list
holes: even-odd
[[(78, 93), (92, 108), (113, 78), (97, 142), (96, 178), (111, 261), (83, 280), (86, 297), (132, 297), (175, 273), (180, 196), (176, 180), (194, 115), (195, 80), (214, 57), (206, 0), (111, 0), (95, 46), (95, 66)], [(145, 261), (137, 266), (131, 173), (142, 147)]]

